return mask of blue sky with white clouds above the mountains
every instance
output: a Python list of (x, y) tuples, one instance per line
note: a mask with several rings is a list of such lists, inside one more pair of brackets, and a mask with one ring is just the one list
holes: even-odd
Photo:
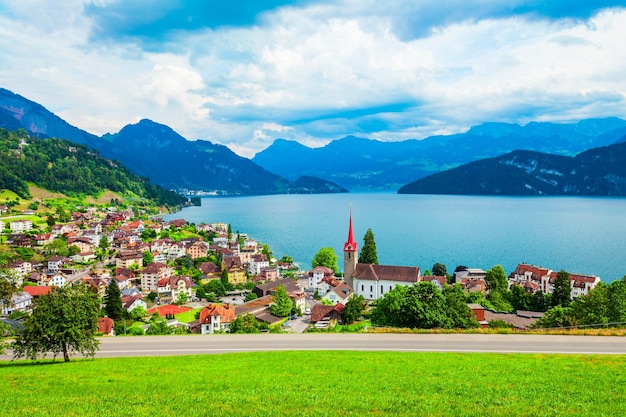
[(0, 87), (90, 133), (245, 157), (626, 118), (626, 1), (0, 0)]

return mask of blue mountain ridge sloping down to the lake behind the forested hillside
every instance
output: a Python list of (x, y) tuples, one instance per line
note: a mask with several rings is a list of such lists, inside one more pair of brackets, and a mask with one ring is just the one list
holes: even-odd
[(69, 125), (40, 104), (1, 88), (0, 127), (24, 128), (40, 138), (58, 137), (85, 144), (171, 189), (224, 195), (347, 192), (324, 180), (287, 180), (225, 146), (188, 141), (168, 126), (147, 119), (125, 126), (118, 133), (97, 137)]

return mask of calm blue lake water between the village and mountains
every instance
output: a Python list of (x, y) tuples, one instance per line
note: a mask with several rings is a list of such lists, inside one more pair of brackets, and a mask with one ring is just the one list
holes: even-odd
[(204, 198), (166, 219), (225, 222), (233, 231), (267, 243), (277, 258), (287, 254), (310, 269), (317, 251), (339, 256), (352, 205), (359, 246), (374, 232), (381, 264), (435, 262), (510, 273), (520, 262), (598, 275), (605, 282), (626, 275), (626, 199), (478, 197), (350, 193)]

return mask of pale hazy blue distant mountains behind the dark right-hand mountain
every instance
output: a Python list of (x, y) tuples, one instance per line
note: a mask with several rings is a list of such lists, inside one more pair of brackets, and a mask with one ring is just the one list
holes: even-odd
[(423, 140), (381, 142), (348, 136), (320, 148), (277, 139), (252, 159), (270, 172), (295, 179), (315, 175), (357, 189), (397, 189), (436, 172), (513, 150), (573, 156), (626, 136), (626, 121), (586, 119), (572, 124), (484, 123), (465, 133)]

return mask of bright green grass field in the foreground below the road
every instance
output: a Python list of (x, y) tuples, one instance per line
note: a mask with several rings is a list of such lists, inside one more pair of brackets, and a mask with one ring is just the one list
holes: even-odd
[(0, 363), (2, 416), (623, 416), (626, 356), (262, 352)]

